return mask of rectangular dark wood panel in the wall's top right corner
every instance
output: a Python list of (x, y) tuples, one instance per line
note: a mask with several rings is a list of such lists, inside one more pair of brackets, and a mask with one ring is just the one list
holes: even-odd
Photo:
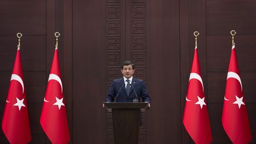
[(254, 0), (206, 1), (207, 34), (256, 33)]

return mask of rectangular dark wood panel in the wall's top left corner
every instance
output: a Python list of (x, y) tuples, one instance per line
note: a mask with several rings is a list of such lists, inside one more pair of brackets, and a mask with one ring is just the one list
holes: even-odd
[(46, 1), (2, 0), (0, 11), (0, 35), (46, 34)]

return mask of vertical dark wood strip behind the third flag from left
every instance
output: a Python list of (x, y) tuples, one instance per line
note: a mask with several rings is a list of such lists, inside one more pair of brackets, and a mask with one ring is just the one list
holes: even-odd
[[(194, 31), (199, 31), (198, 51), (203, 84), (206, 88), (206, 9), (205, 0), (187, 1), (180, 0), (180, 52), (181, 52), (181, 117), (183, 117), (185, 95), (187, 94), (188, 78), (193, 61), (195, 37)], [(207, 95), (207, 89), (206, 95)], [(182, 120), (182, 119), (181, 119)], [(182, 123), (181, 143), (191, 143), (193, 140), (188, 135)]]

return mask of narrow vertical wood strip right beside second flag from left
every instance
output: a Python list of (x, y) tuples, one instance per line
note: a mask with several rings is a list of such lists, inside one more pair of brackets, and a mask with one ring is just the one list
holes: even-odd
[(62, 30), (62, 46), (63, 46), (63, 87), (65, 89), (65, 103), (68, 116), (70, 142), (73, 143), (73, 19), (72, 19), (72, 0), (63, 0), (63, 30)]

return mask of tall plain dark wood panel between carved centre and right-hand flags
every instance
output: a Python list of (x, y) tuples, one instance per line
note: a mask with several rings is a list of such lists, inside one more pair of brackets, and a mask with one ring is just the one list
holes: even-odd
[(147, 143), (180, 143), (179, 1), (146, 1), (146, 15)]

